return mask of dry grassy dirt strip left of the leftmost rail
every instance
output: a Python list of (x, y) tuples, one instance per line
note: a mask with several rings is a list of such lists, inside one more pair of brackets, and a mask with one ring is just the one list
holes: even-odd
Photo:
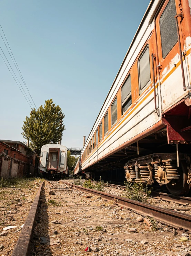
[[(14, 184), (16, 183), (16, 184)], [(17, 179), (0, 187), (0, 255), (11, 255), (42, 179)], [(6, 185), (6, 184), (5, 184)], [(9, 187), (10, 186), (10, 187)], [(16, 226), (16, 228), (3, 228)], [(4, 232), (3, 232), (4, 231)]]

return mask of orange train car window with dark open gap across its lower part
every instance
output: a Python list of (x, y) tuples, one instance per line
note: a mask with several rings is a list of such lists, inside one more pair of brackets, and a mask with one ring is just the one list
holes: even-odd
[(121, 106), (122, 114), (128, 109), (132, 103), (131, 98), (131, 75), (129, 74), (128, 78), (124, 82), (124, 85), (121, 88)]

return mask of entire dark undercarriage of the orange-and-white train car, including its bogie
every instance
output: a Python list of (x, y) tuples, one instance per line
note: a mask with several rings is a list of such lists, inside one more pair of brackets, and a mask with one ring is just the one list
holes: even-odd
[(190, 159), (191, 145), (169, 144), (167, 128), (163, 128), (89, 167), (85, 176), (101, 176), (111, 183), (126, 179), (160, 185), (173, 195), (187, 195), (191, 188)]

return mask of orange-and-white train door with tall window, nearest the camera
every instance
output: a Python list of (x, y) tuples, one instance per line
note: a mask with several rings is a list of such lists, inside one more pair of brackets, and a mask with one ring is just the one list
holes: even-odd
[[(172, 106), (174, 102), (177, 102), (183, 97), (183, 94), (187, 94), (187, 92), (183, 91), (178, 34), (174, 18), (174, 16), (181, 11), (176, 2), (177, 0), (166, 0), (159, 11), (155, 22), (159, 56), (158, 68), (160, 70), (161, 79), (162, 110)], [(180, 17), (179, 19), (181, 20)], [(179, 31), (183, 49), (182, 32), (180, 29), (181, 24), (179, 19)], [(186, 67), (184, 73), (185, 71)], [(186, 80), (188, 85), (188, 78)]]

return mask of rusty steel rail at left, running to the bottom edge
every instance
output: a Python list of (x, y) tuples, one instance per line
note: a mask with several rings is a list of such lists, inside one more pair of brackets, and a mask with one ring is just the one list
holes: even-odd
[(34, 198), (31, 209), (29, 211), (26, 221), (24, 222), (24, 226), (21, 230), (21, 233), (19, 235), (19, 238), (17, 240), (17, 243), (14, 247), (14, 250), (13, 250), (11, 256), (27, 256), (28, 255), (34, 219), (36, 216), (40, 193), (41, 193), (43, 184), (44, 184), (44, 182), (41, 183), (41, 185), (38, 189), (38, 192)]

